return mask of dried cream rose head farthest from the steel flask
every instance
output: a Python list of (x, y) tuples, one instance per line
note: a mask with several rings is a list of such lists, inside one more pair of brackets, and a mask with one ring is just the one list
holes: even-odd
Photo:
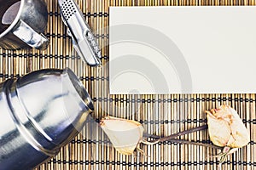
[(237, 112), (229, 105), (206, 111), (210, 139), (218, 146), (241, 148), (248, 144), (250, 136)]

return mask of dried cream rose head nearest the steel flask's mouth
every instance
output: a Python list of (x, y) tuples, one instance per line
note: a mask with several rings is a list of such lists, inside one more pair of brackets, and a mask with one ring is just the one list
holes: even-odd
[(124, 155), (131, 155), (143, 139), (144, 128), (136, 121), (105, 116), (100, 125), (113, 147)]

